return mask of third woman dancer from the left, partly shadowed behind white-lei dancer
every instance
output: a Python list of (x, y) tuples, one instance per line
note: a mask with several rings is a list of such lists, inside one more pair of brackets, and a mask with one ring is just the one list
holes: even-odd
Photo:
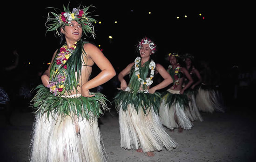
[[(174, 83), (162, 94), (163, 97), (159, 114), (163, 125), (171, 130), (179, 128), (179, 132), (182, 132), (183, 129), (188, 130), (193, 127), (193, 124), (185, 113), (188, 108), (189, 100), (188, 97), (183, 94), (184, 91), (191, 86), (193, 79), (189, 75), (188, 70), (181, 67), (178, 63), (177, 58), (179, 57), (177, 53), (168, 54), (170, 65), (167, 71), (172, 76)], [(182, 87), (184, 75), (189, 79), (189, 82), (185, 87)]]

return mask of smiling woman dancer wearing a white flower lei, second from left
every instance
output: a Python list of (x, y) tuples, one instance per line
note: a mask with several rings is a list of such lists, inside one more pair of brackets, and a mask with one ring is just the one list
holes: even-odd
[[(158, 108), (161, 98), (159, 93), (155, 92), (168, 86), (172, 78), (162, 65), (155, 64), (150, 59), (151, 55), (155, 55), (154, 42), (145, 37), (139, 42), (138, 50), (140, 57), (128, 64), (118, 75), (122, 91), (117, 93), (114, 100), (119, 111), (121, 147), (154, 156), (155, 150), (172, 150), (177, 145), (160, 122)], [(155, 72), (164, 80), (151, 87)], [(130, 81), (127, 86), (124, 76), (128, 74)]]

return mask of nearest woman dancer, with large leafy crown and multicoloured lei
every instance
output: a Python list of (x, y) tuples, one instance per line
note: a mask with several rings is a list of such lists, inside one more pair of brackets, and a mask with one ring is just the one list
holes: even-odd
[[(93, 44), (81, 35), (93, 34), (88, 7), (64, 7), (61, 14), (48, 18), (47, 31), (56, 30), (66, 42), (55, 51), (51, 66), (41, 76), (43, 85), (32, 100), (37, 109), (31, 143), (32, 162), (102, 162), (106, 161), (97, 119), (106, 110), (101, 93), (90, 93), (110, 80), (115, 70)], [(101, 72), (88, 80), (93, 64)]]

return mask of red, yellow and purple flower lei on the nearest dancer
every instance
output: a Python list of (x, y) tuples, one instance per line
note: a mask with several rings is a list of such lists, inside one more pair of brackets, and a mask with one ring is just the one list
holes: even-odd
[(67, 48), (67, 45), (63, 45), (55, 59), (56, 67), (53, 76), (51, 77), (51, 81), (49, 81), (50, 84), (47, 86), (50, 88), (50, 92), (52, 92), (54, 96), (60, 96), (62, 93), (64, 93), (64, 83), (67, 77), (67, 64), (65, 63), (74, 53), (75, 49), (76, 43), (70, 48)]

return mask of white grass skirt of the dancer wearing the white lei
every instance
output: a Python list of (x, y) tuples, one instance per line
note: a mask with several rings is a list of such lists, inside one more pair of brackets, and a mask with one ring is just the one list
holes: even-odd
[(142, 149), (143, 152), (149, 152), (166, 148), (170, 151), (177, 145), (165, 131), (153, 108), (148, 115), (144, 114), (142, 108), (137, 113), (131, 105), (127, 111), (120, 108), (119, 126), (121, 147), (128, 150)]

